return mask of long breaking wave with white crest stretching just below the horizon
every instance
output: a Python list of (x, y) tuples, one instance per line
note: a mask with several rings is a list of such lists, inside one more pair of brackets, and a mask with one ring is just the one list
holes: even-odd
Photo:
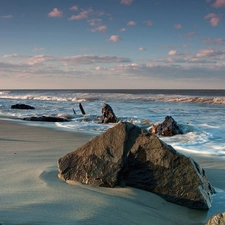
[(37, 101), (58, 101), (58, 102), (91, 102), (91, 101), (149, 101), (149, 102), (173, 102), (193, 104), (219, 104), (225, 105), (225, 97), (218, 96), (191, 96), (172, 94), (135, 94), (135, 93), (79, 93), (79, 92), (34, 92), (21, 93), (19, 91), (0, 91), (1, 99), (11, 100), (37, 100)]

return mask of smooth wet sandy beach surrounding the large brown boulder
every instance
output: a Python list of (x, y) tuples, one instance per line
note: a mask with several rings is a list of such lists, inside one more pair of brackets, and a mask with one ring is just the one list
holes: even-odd
[(0, 120), (0, 224), (200, 225), (225, 212), (224, 157), (188, 155), (205, 169), (217, 190), (208, 211), (178, 206), (130, 187), (109, 189), (60, 180), (57, 160), (90, 138)]

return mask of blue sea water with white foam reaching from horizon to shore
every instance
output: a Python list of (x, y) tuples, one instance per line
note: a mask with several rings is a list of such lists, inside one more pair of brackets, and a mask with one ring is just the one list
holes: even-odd
[[(115, 126), (101, 123), (103, 103), (112, 107), (118, 120), (132, 121), (144, 129), (172, 116), (184, 134), (160, 136), (161, 140), (178, 151), (225, 156), (225, 90), (2, 90), (0, 118), (99, 135)], [(12, 109), (14, 104), (27, 104), (35, 110)], [(68, 118), (69, 122), (22, 120), (44, 115)]]

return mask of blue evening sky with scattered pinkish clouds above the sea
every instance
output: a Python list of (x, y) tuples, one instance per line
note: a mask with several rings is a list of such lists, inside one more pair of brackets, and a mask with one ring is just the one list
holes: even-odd
[(225, 0), (0, 0), (0, 89), (224, 89)]

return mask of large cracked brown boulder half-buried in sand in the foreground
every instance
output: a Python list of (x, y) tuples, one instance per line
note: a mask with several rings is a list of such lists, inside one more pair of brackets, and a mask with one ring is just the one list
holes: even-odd
[(196, 209), (209, 209), (215, 192), (194, 160), (127, 122), (61, 157), (58, 169), (63, 180), (102, 187), (128, 185)]

